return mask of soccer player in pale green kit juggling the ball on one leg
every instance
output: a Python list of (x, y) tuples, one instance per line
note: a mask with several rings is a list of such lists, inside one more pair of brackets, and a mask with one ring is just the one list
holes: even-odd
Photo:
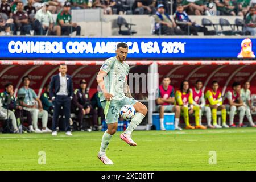
[(130, 125), (126, 131), (120, 135), (120, 138), (130, 146), (137, 146), (137, 143), (131, 139), (131, 132), (142, 122), (142, 119), (147, 114), (147, 107), (141, 102), (135, 100), (130, 93), (127, 84), (127, 77), (130, 67), (125, 63), (128, 46), (126, 43), (118, 43), (116, 56), (110, 57), (101, 66), (100, 72), (97, 75), (97, 82), (101, 89), (100, 102), (104, 109), (108, 130), (102, 136), (100, 152), (98, 158), (104, 164), (114, 164), (106, 156), (106, 148), (109, 145), (110, 139), (117, 131), (119, 112), (124, 105), (133, 105), (136, 113), (131, 119)]

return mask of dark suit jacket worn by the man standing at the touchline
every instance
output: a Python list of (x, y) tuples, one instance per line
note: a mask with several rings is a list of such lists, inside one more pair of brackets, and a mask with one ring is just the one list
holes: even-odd
[[(68, 96), (73, 97), (73, 81), (70, 75), (67, 75)], [(53, 75), (50, 82), (50, 97), (56, 97), (60, 90), (60, 75)]]

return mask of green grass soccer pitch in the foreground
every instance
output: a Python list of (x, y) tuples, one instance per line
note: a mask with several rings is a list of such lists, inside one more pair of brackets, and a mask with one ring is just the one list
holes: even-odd
[[(113, 166), (98, 158), (102, 132), (0, 134), (0, 170), (255, 170), (256, 129), (134, 131), (137, 147), (112, 138), (107, 155)], [(39, 151), (46, 164), (38, 164)], [(209, 164), (210, 151), (217, 164)]]

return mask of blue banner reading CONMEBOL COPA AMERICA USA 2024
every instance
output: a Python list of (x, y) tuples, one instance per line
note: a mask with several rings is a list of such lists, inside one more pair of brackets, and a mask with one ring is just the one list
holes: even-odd
[(105, 59), (117, 43), (131, 59), (254, 58), (255, 38), (1, 37), (0, 59)]

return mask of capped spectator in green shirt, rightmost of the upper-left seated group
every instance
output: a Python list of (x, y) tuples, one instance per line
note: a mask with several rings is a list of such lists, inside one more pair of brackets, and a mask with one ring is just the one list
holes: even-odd
[(72, 32), (76, 31), (76, 35), (80, 36), (81, 27), (76, 23), (72, 23), (72, 16), (69, 13), (71, 7), (70, 2), (65, 2), (63, 10), (60, 11), (57, 15), (56, 24), (59, 24), (61, 27), (61, 35), (69, 35)]

